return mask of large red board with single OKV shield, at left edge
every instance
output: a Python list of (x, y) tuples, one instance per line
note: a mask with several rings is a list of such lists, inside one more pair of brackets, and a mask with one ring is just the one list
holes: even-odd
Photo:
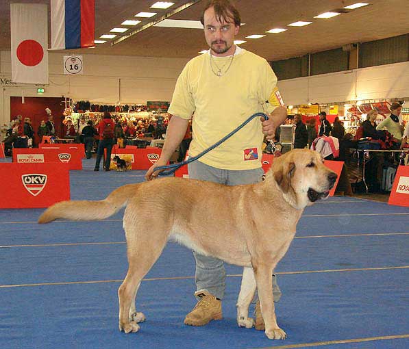
[(0, 164), (0, 209), (49, 207), (70, 199), (67, 164)]

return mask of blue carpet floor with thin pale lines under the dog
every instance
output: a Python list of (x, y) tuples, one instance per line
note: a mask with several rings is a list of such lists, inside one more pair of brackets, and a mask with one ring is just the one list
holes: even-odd
[[(99, 200), (119, 185), (143, 181), (143, 171), (93, 172), (95, 159), (83, 164), (84, 170), (71, 171), (73, 199)], [(238, 328), (237, 276), (227, 277), (223, 320), (184, 326), (195, 305), (195, 268), (190, 250), (174, 243), (146, 278), (186, 279), (144, 281), (137, 308), (147, 321), (136, 334), (120, 333), (116, 292), (127, 270), (123, 212), (101, 222), (39, 225), (42, 211), (0, 210), (0, 348), (271, 348), (409, 333), (408, 268), (394, 269), (409, 265), (404, 207), (336, 197), (304, 211), (276, 270), (283, 292), (277, 319), (286, 341)], [(309, 348), (408, 347), (405, 338)]]

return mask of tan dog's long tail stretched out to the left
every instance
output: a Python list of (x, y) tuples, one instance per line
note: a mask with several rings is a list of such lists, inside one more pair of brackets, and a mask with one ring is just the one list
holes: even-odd
[(101, 220), (115, 214), (127, 204), (138, 184), (127, 184), (114, 190), (101, 201), (61, 201), (49, 207), (38, 218), (38, 223), (48, 223), (58, 218), (68, 220)]

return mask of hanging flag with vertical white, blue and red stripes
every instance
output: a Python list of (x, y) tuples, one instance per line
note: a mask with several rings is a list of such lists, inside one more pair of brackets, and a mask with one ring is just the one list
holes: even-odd
[(51, 49), (95, 47), (95, 0), (51, 0)]

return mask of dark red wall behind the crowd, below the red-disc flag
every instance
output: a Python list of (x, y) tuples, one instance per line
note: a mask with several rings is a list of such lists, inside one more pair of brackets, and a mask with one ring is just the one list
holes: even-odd
[(62, 97), (24, 97), (24, 104), (21, 102), (21, 96), (10, 97), (10, 120), (17, 115), (23, 116), (23, 122), (24, 118), (31, 118), (35, 133), (34, 144), (40, 142), (37, 131), (41, 120), (48, 120), (45, 108), (51, 109), (54, 117), (55, 133), (60, 135), (62, 120), (64, 119), (62, 113), (65, 108), (64, 99)]

